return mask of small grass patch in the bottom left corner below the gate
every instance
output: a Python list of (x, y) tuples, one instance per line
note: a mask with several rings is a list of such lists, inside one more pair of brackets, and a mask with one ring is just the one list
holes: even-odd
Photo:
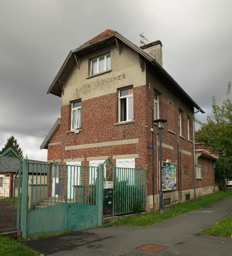
[(0, 256), (37, 256), (40, 253), (21, 245), (9, 237), (0, 236)]

